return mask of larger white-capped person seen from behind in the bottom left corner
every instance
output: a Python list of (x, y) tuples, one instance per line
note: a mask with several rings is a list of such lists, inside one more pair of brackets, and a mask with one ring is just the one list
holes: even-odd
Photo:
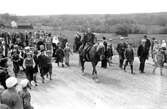
[(6, 80), (8, 89), (1, 94), (1, 103), (6, 104), (9, 109), (23, 109), (23, 102), (16, 90), (18, 82), (15, 77), (10, 77)]

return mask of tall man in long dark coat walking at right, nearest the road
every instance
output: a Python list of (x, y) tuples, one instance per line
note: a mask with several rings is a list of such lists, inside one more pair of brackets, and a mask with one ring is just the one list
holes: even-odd
[(148, 58), (148, 48), (146, 47), (146, 40), (142, 39), (142, 44), (138, 47), (137, 55), (140, 60), (139, 71), (140, 73), (144, 73), (145, 61)]

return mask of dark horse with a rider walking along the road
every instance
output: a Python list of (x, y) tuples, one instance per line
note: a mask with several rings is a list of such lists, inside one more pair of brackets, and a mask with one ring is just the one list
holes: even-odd
[(103, 43), (96, 43), (92, 47), (89, 47), (89, 49), (85, 53), (86, 59), (83, 59), (83, 56), (81, 55), (82, 53), (82, 47), (79, 49), (79, 59), (80, 59), (80, 64), (82, 67), (82, 72), (84, 73), (84, 63), (85, 62), (91, 62), (93, 71), (92, 71), (92, 78), (97, 81), (97, 70), (96, 70), (96, 65), (98, 64), (99, 61), (101, 61), (104, 58), (104, 45)]

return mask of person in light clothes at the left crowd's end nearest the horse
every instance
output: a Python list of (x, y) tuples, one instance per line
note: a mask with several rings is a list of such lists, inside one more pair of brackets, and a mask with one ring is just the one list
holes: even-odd
[(70, 66), (70, 54), (72, 54), (72, 50), (69, 47), (69, 44), (66, 43), (66, 47), (64, 48), (64, 57), (65, 57), (65, 64)]

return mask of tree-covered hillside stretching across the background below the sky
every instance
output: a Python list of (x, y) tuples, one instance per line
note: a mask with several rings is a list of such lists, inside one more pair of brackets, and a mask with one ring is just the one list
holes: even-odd
[(107, 15), (46, 15), (16, 16), (0, 15), (0, 23), (10, 25), (11, 21), (29, 23), (34, 26), (51, 26), (56, 30), (85, 31), (90, 27), (95, 32), (167, 33), (167, 12), (142, 14)]

